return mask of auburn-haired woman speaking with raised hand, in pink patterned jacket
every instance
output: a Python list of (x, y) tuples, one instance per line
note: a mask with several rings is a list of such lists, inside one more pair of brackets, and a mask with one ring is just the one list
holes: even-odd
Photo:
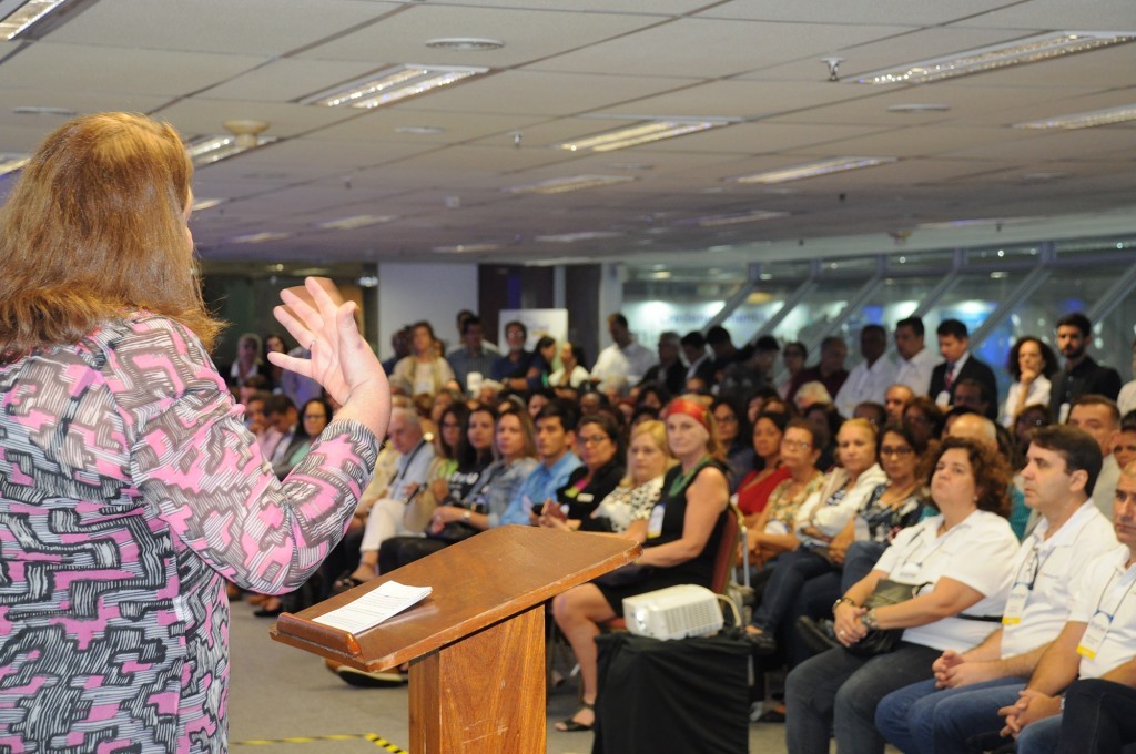
[(283, 480), (207, 350), (167, 125), (78, 118), (0, 210), (0, 748), (227, 748), (225, 579), (290, 592), (343, 536), (386, 429), (386, 376), (316, 280), (274, 365), (342, 409)]

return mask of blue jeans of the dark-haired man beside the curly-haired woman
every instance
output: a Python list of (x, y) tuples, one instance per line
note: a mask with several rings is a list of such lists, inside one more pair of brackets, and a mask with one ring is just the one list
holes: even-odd
[(934, 679), (912, 684), (879, 702), (876, 727), (905, 754), (994, 748), (1004, 724), (997, 711), (1018, 701), (1026, 680), (997, 678), (946, 689), (935, 688)]

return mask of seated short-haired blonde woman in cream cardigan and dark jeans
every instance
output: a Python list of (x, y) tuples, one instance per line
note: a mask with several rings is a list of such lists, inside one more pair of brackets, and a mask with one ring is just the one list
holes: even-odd
[(786, 619), (800, 590), (809, 579), (829, 572), (838, 564), (829, 547), (838, 547), (836, 560), (852, 539), (852, 520), (877, 486), (887, 477), (876, 462), (876, 428), (864, 419), (849, 419), (837, 435), (841, 466), (833, 469), (820, 491), (804, 502), (793, 522), (800, 543), (777, 559), (761, 604), (746, 626), (746, 638), (755, 653), (777, 651), (776, 635), (786, 628)]

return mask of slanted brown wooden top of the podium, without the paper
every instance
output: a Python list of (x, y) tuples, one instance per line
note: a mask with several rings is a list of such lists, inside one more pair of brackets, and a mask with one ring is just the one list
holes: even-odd
[[(629, 539), (524, 526), (490, 529), (350, 592), (284, 613), (278, 642), (366, 670), (391, 668), (511, 618), (638, 556)], [(385, 581), (428, 586), (431, 596), (358, 635), (314, 622)]]

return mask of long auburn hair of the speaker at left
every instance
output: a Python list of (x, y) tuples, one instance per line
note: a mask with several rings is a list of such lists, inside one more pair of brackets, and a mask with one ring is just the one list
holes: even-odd
[(172, 126), (102, 112), (43, 142), (0, 209), (0, 361), (77, 343), (134, 311), (174, 319), (211, 349), (185, 225), (190, 162)]

